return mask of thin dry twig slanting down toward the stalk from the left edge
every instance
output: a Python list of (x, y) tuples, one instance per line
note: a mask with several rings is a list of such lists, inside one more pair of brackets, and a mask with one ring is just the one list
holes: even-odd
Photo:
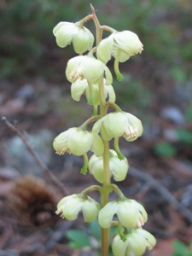
[(23, 143), (26, 145), (27, 150), (30, 154), (32, 154), (33, 159), (36, 161), (37, 165), (44, 171), (45, 177), (53, 183), (58, 189), (61, 190), (62, 195), (69, 195), (69, 192), (67, 188), (55, 177), (55, 175), (49, 170), (47, 166), (44, 165), (42, 160), (38, 158), (38, 155), (34, 152), (31, 145), (27, 142), (26, 137), (23, 136), (23, 134), (17, 129), (14, 125), (9, 123), (8, 119), (6, 117), (2, 117), (2, 121), (4, 125), (6, 125), (10, 131), (15, 132), (20, 139), (23, 141)]

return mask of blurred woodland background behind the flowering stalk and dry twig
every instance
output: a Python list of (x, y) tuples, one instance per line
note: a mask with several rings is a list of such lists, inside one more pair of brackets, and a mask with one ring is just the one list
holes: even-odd
[[(136, 32), (144, 45), (142, 55), (120, 64), (125, 79), (119, 83), (114, 77), (113, 87), (120, 108), (137, 115), (144, 127), (136, 142), (120, 140), (131, 168), (119, 186), (148, 212), (144, 228), (158, 244), (146, 255), (191, 255), (192, 3), (91, 3), (102, 25)], [(84, 96), (73, 102), (65, 78), (73, 46), (60, 49), (52, 30), (60, 21), (75, 22), (89, 14), (90, 2), (84, 0), (0, 1), (0, 116), (22, 131), (70, 193), (78, 193), (94, 179), (79, 174), (80, 157), (55, 155), (52, 142), (61, 131), (81, 125), (92, 109)], [(84, 26), (95, 34), (93, 21)], [(109, 68), (113, 72), (113, 60)], [(69, 223), (55, 216), (61, 191), (49, 183), (20, 137), (3, 122), (0, 143), (0, 255), (98, 255), (96, 224), (84, 224), (82, 218)], [(88, 236), (80, 241), (83, 235), (70, 229)], [(90, 251), (90, 244), (95, 250)]]

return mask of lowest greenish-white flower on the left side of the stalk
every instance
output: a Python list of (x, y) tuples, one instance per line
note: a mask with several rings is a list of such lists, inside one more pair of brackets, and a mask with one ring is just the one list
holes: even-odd
[(97, 218), (100, 206), (90, 196), (81, 194), (68, 195), (59, 201), (57, 205), (57, 214), (62, 218), (74, 220), (78, 218), (79, 212), (83, 212), (84, 221), (91, 222)]

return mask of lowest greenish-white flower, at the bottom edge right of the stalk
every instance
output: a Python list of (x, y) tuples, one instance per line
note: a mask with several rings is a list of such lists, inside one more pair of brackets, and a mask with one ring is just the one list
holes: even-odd
[(132, 230), (125, 238), (125, 241), (122, 241), (119, 235), (114, 237), (114, 256), (142, 256), (146, 249), (151, 250), (156, 244), (154, 236), (143, 229)]

